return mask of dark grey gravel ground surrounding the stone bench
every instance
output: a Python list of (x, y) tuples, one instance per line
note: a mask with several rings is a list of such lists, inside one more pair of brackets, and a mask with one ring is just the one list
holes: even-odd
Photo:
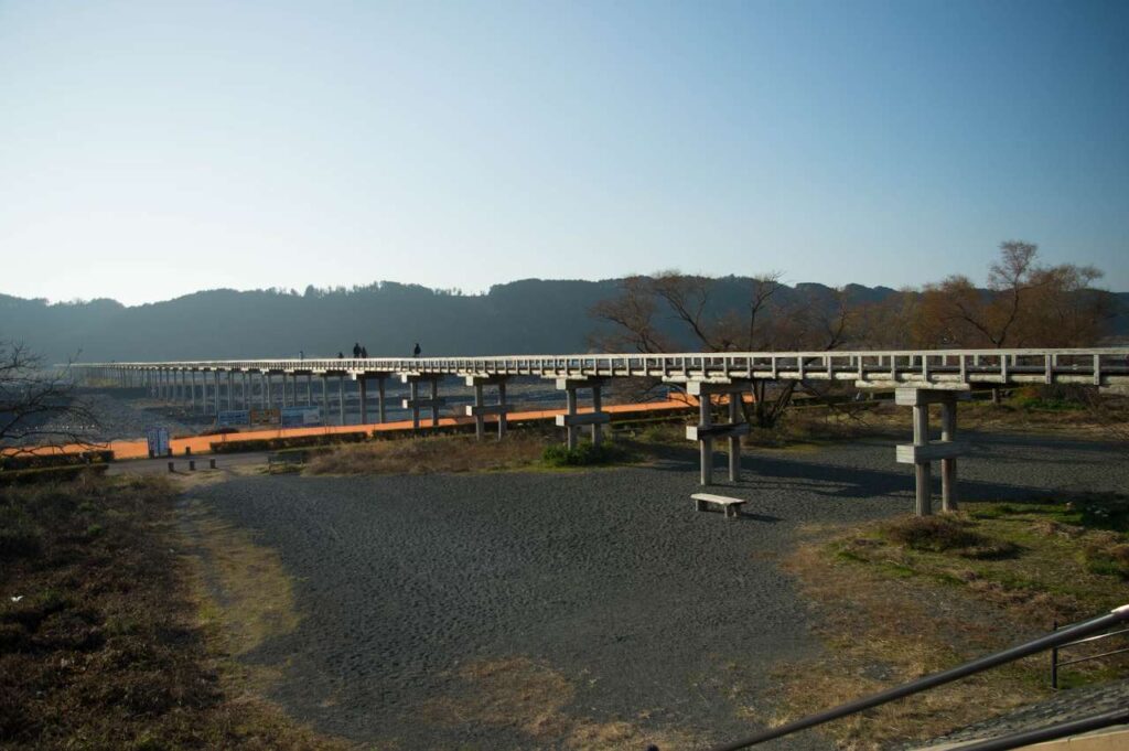
[[(966, 437), (979, 448), (961, 463), (965, 498), (1129, 481), (1110, 446)], [(820, 649), (811, 611), (772, 562), (797, 527), (912, 508), (912, 470), (893, 454), (890, 442), (856, 440), (745, 456), (746, 481), (714, 490), (749, 499), (734, 521), (693, 510), (692, 449), (648, 468), (280, 475), (191, 496), (275, 548), (296, 578), (301, 625), (252, 660), (289, 661), (275, 698), (320, 730), (403, 749), (544, 746), (513, 726), (426, 710), (475, 690), (460, 665), (524, 656), (574, 687), (572, 716), (707, 744), (755, 730), (771, 714), (758, 700), (767, 671)], [(828, 746), (806, 733), (771, 748)]]

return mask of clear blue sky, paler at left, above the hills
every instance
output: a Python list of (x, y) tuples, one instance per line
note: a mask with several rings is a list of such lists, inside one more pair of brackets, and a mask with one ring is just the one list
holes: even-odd
[(1129, 2), (0, 0), (0, 292), (1129, 290)]

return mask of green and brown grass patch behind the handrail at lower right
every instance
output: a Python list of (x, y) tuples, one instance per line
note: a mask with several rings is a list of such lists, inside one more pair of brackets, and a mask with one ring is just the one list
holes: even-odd
[[(1122, 604), (1129, 501), (973, 504), (956, 516), (808, 530), (787, 564), (815, 603), (826, 653), (782, 665), (773, 697), (794, 719)], [(1079, 653), (1080, 654), (1080, 653)], [(825, 727), (844, 749), (925, 740), (1049, 693), (1047, 655)], [(1112, 678), (1094, 662), (1066, 684)]]

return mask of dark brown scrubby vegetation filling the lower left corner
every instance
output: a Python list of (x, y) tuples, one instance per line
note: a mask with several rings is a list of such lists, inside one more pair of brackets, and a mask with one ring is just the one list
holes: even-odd
[(347, 748), (235, 680), (173, 497), (128, 478), (0, 490), (0, 748)]

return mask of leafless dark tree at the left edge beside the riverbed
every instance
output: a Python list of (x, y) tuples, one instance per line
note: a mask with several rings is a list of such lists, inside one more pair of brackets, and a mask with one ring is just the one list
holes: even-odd
[(45, 367), (19, 342), (0, 341), (0, 448), (7, 454), (78, 444), (93, 447), (97, 419), (75, 393), (69, 365)]

